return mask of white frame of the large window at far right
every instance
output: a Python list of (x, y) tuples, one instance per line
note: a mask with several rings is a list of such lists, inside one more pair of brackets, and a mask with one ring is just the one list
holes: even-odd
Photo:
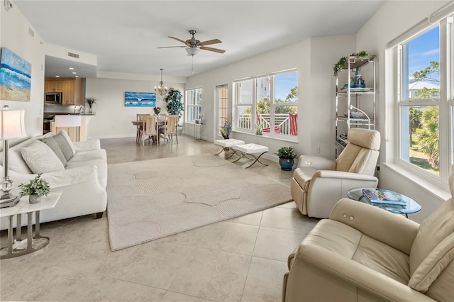
[[(408, 89), (404, 89), (404, 85), (408, 86), (408, 79), (404, 79), (404, 77), (408, 77), (408, 74), (404, 74), (403, 70), (403, 65), (405, 64), (403, 55), (405, 50), (402, 45), (436, 26), (439, 26), (440, 31), (440, 95), (434, 99), (404, 99), (403, 94), (408, 92)], [(387, 72), (388, 76), (394, 82), (394, 108), (396, 108), (394, 125), (397, 133), (394, 140), (396, 146), (394, 148), (394, 162), (411, 174), (415, 174), (433, 184), (441, 184), (442, 186), (448, 184), (449, 169), (454, 163), (454, 87), (451, 84), (454, 75), (453, 33), (453, 16), (448, 16), (437, 23), (427, 24), (426, 28), (419, 30), (418, 33), (414, 33), (402, 39), (402, 42), (394, 43), (393, 47), (388, 48), (392, 54), (391, 57), (394, 61), (394, 66), (396, 67), (396, 69), (391, 68), (392, 71)], [(392, 73), (392, 75), (389, 73)], [(403, 140), (408, 141), (408, 137), (404, 138), (402, 135), (402, 123), (404, 123), (402, 122), (402, 110), (405, 107), (414, 106), (438, 106), (438, 149), (440, 156), (438, 175), (428, 172), (402, 158), (402, 148), (405, 147)]]

